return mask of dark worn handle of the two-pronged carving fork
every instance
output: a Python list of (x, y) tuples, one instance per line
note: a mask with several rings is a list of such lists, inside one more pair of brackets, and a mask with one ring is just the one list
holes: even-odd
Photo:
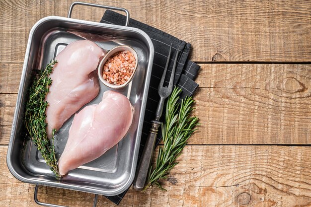
[(149, 166), (151, 164), (155, 143), (156, 143), (156, 135), (161, 122), (152, 121), (152, 127), (150, 129), (150, 133), (147, 139), (147, 142), (144, 147), (144, 151), (142, 157), (140, 159), (138, 169), (136, 172), (136, 177), (133, 182), (133, 187), (136, 190), (143, 190), (146, 184), (147, 176), (149, 173)]

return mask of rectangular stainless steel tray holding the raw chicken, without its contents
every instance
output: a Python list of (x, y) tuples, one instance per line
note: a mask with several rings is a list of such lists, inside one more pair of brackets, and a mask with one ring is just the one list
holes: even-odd
[[(23, 182), (113, 196), (126, 190), (134, 179), (154, 47), (149, 36), (140, 29), (70, 18), (75, 4), (93, 5), (75, 2), (69, 11), (69, 18), (48, 16), (39, 20), (30, 31), (8, 146), (7, 165), (14, 177)], [(95, 6), (107, 8), (107, 6)], [(129, 16), (126, 24), (128, 20)], [(23, 123), (24, 105), (28, 98), (28, 87), (33, 70), (44, 69), (67, 44), (81, 39), (70, 33), (72, 31), (103, 35), (102, 40), (94, 42), (105, 50), (118, 45), (129, 45), (137, 52), (138, 67), (132, 82), (125, 88), (117, 90), (126, 95), (133, 105), (134, 120), (127, 136), (116, 146), (98, 159), (71, 171), (58, 182), (32, 141), (27, 141)], [(103, 92), (109, 90), (101, 82), (100, 84), (99, 95), (88, 104), (99, 103)], [(73, 116), (56, 136), (58, 158), (64, 150), (72, 121)]]

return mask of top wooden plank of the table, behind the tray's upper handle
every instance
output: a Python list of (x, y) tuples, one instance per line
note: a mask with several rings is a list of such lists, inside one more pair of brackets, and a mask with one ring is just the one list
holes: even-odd
[[(0, 4), (0, 62), (24, 60), (31, 27), (67, 16), (74, 0), (10, 0)], [(131, 17), (192, 43), (194, 61), (310, 61), (311, 1), (90, 0), (127, 8)], [(103, 9), (77, 6), (73, 17), (99, 21)]]

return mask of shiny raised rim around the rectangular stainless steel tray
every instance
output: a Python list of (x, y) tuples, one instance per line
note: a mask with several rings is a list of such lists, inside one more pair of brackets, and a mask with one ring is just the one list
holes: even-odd
[[(16, 125), (17, 125), (17, 120), (19, 117), (19, 111), (21, 108), (21, 100), (23, 97), (22, 91), (25, 88), (25, 79), (26, 79), (26, 72), (27, 72), (27, 64), (29, 61), (29, 55), (30, 55), (30, 47), (32, 45), (32, 38), (33, 35), (36, 31), (36, 29), (43, 23), (50, 21), (50, 20), (60, 20), (60, 21), (67, 21), (71, 23), (76, 23), (76, 24), (84, 24), (84, 25), (89, 25), (89, 26), (98, 26), (102, 28), (112, 28), (112, 29), (117, 29), (117, 30), (124, 30), (124, 31), (132, 31), (135, 33), (138, 33), (139, 35), (143, 36), (145, 40), (148, 43), (148, 47), (150, 49), (150, 54), (148, 58), (148, 64), (147, 64), (147, 69), (146, 69), (146, 80), (144, 81), (144, 90), (143, 90), (143, 97), (142, 97), (142, 108), (141, 108), (141, 115), (139, 117), (139, 124), (138, 124), (138, 137), (136, 140), (135, 148), (134, 148), (134, 159), (133, 163), (131, 166), (131, 172), (128, 180), (120, 187), (113, 189), (112, 191), (107, 191), (107, 190), (97, 190), (97, 189), (90, 189), (88, 187), (83, 187), (83, 186), (74, 186), (70, 188), (68, 184), (62, 184), (59, 182), (51, 182), (51, 181), (45, 181), (45, 180), (40, 180), (36, 181), (35, 179), (31, 178), (25, 178), (21, 176), (12, 166), (12, 144), (15, 141), (15, 136), (16, 136)], [(129, 26), (121, 26), (121, 25), (114, 25), (114, 24), (107, 24), (107, 23), (101, 23), (101, 22), (93, 22), (93, 21), (86, 21), (86, 20), (80, 20), (80, 19), (75, 19), (75, 18), (68, 18), (68, 17), (60, 17), (60, 16), (47, 16), (44, 17), (40, 20), (38, 20), (33, 27), (30, 30), (29, 37), (28, 37), (28, 42), (27, 42), (27, 47), (26, 47), (26, 52), (25, 52), (25, 58), (24, 58), (24, 64), (22, 68), (22, 73), (21, 73), (21, 79), (20, 79), (20, 84), (18, 88), (18, 94), (17, 94), (17, 101), (15, 105), (15, 110), (14, 110), (14, 116), (13, 116), (13, 121), (12, 121), (12, 129), (11, 129), (11, 134), (10, 134), (10, 139), (8, 143), (8, 150), (7, 150), (7, 155), (6, 155), (6, 163), (7, 167), (10, 171), (10, 173), (19, 181), (25, 182), (25, 183), (30, 183), (30, 184), (35, 184), (35, 185), (44, 185), (44, 186), (51, 186), (51, 187), (57, 187), (57, 188), (63, 188), (63, 189), (69, 189), (69, 190), (75, 190), (75, 191), (82, 191), (86, 193), (93, 193), (93, 194), (100, 194), (104, 196), (115, 196), (118, 195), (125, 190), (127, 190), (131, 185), (134, 180), (135, 172), (136, 172), (136, 166), (137, 166), (137, 159), (138, 159), (138, 152), (140, 148), (140, 140), (141, 140), (141, 135), (142, 135), (142, 129), (143, 129), (143, 123), (144, 123), (144, 117), (145, 117), (145, 111), (146, 111), (146, 103), (147, 103), (147, 98), (148, 98), (148, 91), (149, 91), (149, 85), (150, 85), (150, 79), (151, 79), (151, 72), (152, 72), (152, 66), (153, 66), (153, 61), (154, 61), (154, 45), (151, 41), (151, 38), (149, 35), (147, 35), (143, 30), (134, 28), (134, 27), (129, 27)], [(136, 163), (136, 164), (135, 164)]]

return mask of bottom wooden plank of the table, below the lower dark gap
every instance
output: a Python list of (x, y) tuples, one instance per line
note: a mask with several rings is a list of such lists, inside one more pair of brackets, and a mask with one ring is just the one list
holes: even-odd
[[(0, 146), (0, 204), (35, 206), (33, 185), (8, 172), (7, 146)], [(120, 207), (308, 207), (311, 205), (310, 147), (186, 146), (179, 164), (163, 182), (167, 192), (132, 188)], [(93, 196), (47, 187), (39, 199), (68, 206), (90, 206)], [(114, 205), (99, 196), (98, 207)]]

